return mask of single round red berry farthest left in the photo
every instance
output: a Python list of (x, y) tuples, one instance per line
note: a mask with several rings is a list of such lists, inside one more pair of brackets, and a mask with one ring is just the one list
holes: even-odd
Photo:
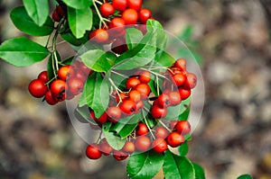
[(32, 94), (34, 97), (40, 98), (46, 94), (47, 86), (41, 79), (34, 79), (28, 85), (28, 90), (30, 94)]

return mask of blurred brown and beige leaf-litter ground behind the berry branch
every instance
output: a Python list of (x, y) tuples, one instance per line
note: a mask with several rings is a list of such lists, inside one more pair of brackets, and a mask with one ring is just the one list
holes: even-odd
[[(0, 0), (1, 43), (23, 35), (9, 18), (19, 4)], [(167, 31), (179, 37), (192, 31), (198, 41), (192, 49), (202, 59), (206, 99), (188, 157), (208, 179), (271, 179), (271, 2), (145, 0), (145, 7)], [(69, 56), (65, 44), (60, 51)], [(0, 179), (126, 178), (126, 161), (85, 157), (87, 144), (70, 124), (65, 103), (52, 107), (28, 93), (44, 69), (45, 62), (19, 68), (0, 61)]]

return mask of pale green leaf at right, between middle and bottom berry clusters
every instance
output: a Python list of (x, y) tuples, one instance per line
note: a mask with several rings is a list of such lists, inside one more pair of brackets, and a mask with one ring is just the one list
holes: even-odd
[(173, 120), (173, 119), (178, 118), (182, 114), (182, 112), (185, 112), (188, 109), (190, 102), (191, 102), (191, 97), (182, 101), (182, 103), (180, 103), (179, 105), (168, 107), (167, 115), (164, 117), (164, 119)]

